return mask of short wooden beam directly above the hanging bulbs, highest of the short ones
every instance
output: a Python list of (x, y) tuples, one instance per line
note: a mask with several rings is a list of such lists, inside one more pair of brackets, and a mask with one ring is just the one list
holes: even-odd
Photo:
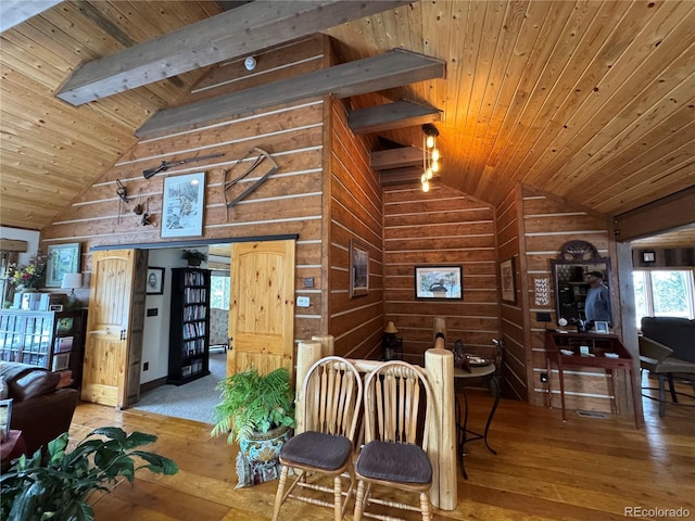
[(351, 111), (348, 114), (348, 125), (353, 134), (371, 134), (434, 123), (441, 120), (441, 116), (442, 111), (433, 106), (396, 101)]

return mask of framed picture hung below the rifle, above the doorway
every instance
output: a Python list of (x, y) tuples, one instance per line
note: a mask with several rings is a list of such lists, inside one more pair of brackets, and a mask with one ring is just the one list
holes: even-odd
[(203, 234), (205, 173), (164, 179), (162, 237)]

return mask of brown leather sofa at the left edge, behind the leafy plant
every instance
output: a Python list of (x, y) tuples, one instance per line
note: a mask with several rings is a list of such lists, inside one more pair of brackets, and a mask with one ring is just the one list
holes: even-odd
[(12, 398), (10, 428), (22, 431), (27, 455), (70, 430), (79, 392), (56, 389), (60, 374), (12, 361), (0, 363), (0, 378)]

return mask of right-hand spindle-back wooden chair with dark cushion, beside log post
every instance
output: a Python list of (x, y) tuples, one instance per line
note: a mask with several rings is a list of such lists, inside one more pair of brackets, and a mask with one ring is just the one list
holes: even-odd
[[(424, 393), (422, 393), (424, 391)], [(422, 402), (425, 394), (426, 402)], [(370, 504), (419, 511), (431, 519), (429, 490), (432, 465), (427, 455), (432, 393), (424, 372), (405, 361), (392, 360), (372, 370), (365, 382), (365, 445), (355, 465), (357, 496), (355, 521), (362, 517), (399, 519), (366, 512)], [(424, 410), (422, 410), (424, 409)], [(418, 424), (418, 419), (424, 421)], [(419, 494), (419, 508), (371, 497), (374, 485)]]

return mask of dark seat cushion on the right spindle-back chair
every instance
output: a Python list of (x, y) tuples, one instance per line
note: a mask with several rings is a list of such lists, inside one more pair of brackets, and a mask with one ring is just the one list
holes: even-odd
[(432, 465), (427, 453), (409, 443), (369, 442), (359, 453), (359, 475), (401, 483), (430, 483)]

